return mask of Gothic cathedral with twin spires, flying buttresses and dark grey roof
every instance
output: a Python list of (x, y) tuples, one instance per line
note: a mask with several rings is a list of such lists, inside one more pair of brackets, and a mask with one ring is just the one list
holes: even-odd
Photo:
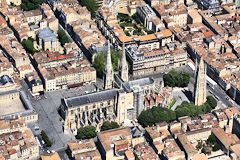
[(110, 43), (104, 70), (104, 90), (85, 95), (63, 98), (60, 113), (64, 119), (64, 133), (77, 134), (77, 129), (87, 125), (100, 128), (106, 121), (120, 125), (126, 120), (137, 119), (144, 110), (144, 95), (157, 92), (163, 87), (163, 80), (142, 78), (129, 81), (125, 45), (122, 48), (119, 73), (113, 72)]

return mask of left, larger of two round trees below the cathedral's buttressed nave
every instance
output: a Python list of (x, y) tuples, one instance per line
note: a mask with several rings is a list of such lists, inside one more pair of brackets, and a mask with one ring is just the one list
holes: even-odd
[(77, 131), (77, 139), (90, 139), (97, 136), (96, 128), (94, 126), (81, 127)]

